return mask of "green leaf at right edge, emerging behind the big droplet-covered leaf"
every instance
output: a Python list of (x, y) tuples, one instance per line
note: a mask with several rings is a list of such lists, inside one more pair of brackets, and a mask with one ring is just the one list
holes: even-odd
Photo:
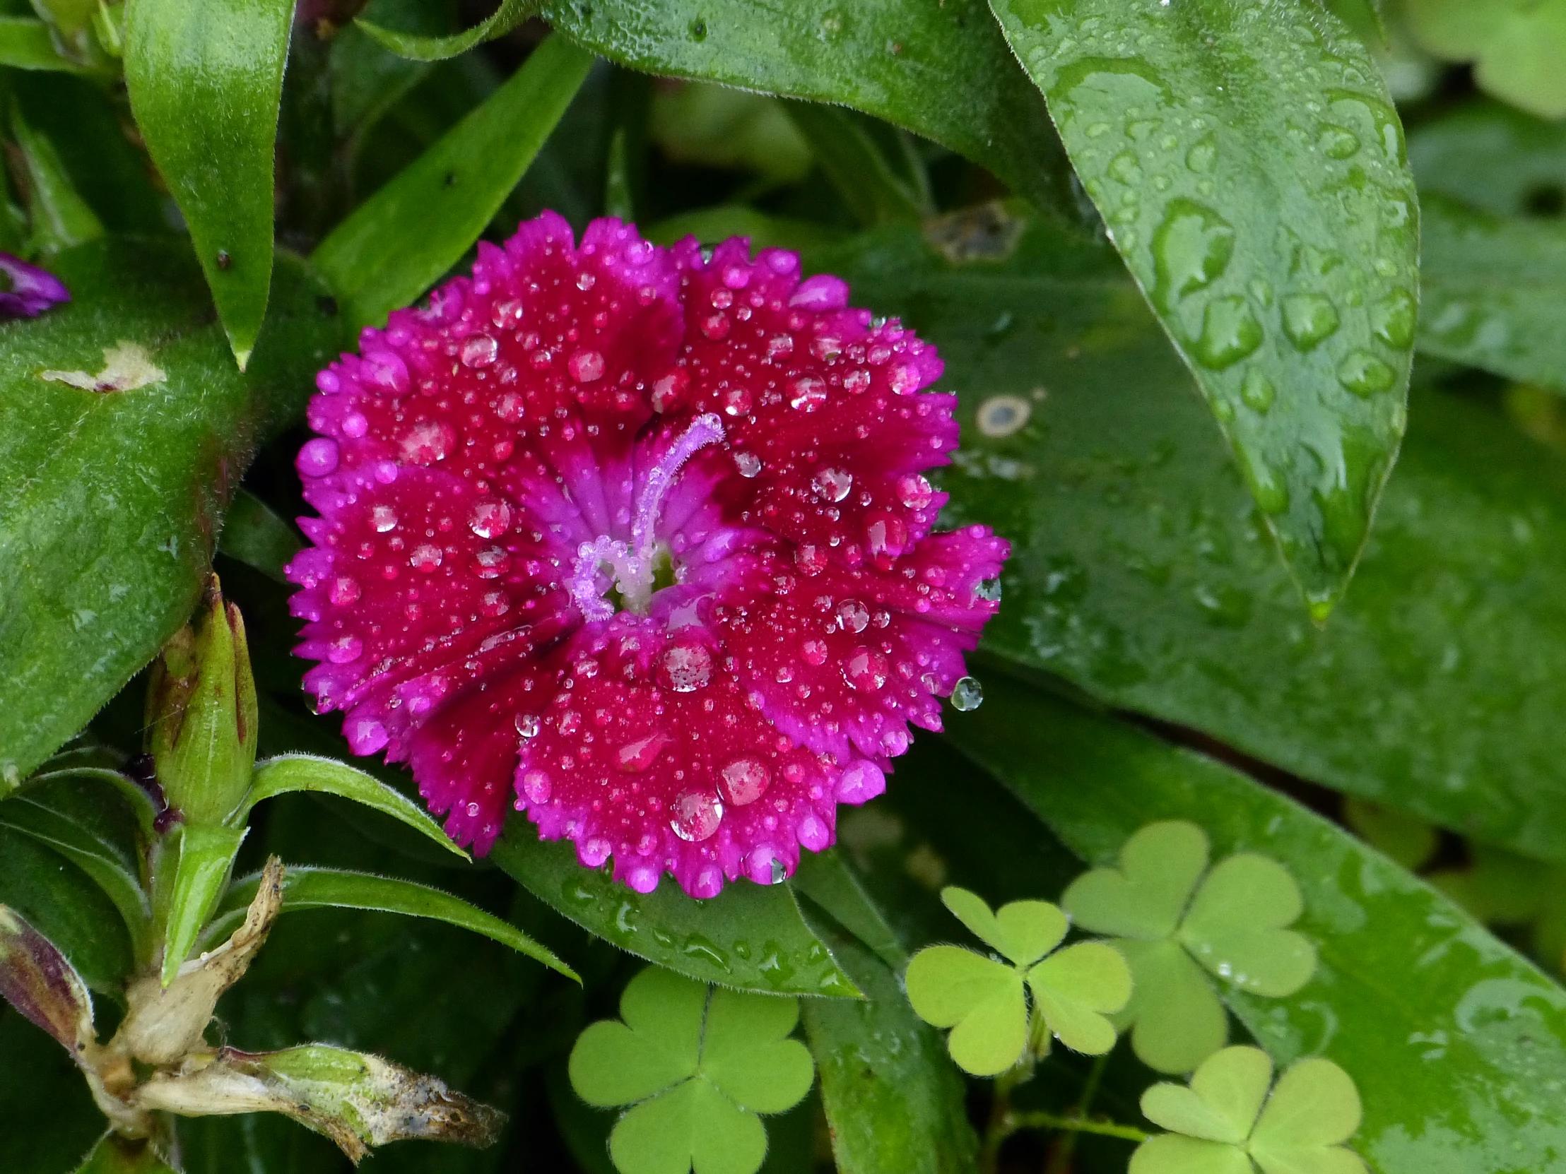
[(1419, 349), (1566, 391), (1566, 225), (1423, 199)]

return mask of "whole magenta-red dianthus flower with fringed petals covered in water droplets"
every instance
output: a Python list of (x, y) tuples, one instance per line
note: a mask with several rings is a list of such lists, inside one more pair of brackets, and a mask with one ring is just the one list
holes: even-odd
[(545, 213), (316, 377), (290, 565), (319, 711), (487, 852), (772, 883), (885, 789), (996, 609), (1007, 543), (932, 532), (935, 349), (725, 241)]

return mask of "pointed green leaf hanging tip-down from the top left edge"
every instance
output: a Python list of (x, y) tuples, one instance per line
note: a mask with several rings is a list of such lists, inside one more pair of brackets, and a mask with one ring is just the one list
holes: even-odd
[(243, 371), (272, 280), (272, 155), (291, 0), (135, 0), (125, 85)]

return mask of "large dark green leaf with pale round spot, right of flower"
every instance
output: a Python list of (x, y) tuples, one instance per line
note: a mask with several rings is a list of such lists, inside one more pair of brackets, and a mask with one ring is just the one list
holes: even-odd
[(1317, 628), (1106, 250), (1005, 208), (930, 235), (940, 249), (888, 229), (810, 261), (940, 348), (963, 426), (944, 521), (1013, 542), (990, 654), (1315, 783), (1566, 858), (1557, 454), (1483, 404), (1419, 388), (1355, 590)]

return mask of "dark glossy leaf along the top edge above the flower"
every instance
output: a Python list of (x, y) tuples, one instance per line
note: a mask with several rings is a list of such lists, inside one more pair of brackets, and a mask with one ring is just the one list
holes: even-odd
[(543, 19), (633, 69), (853, 106), (1054, 199), (1043, 103), (980, 0), (550, 0)]

